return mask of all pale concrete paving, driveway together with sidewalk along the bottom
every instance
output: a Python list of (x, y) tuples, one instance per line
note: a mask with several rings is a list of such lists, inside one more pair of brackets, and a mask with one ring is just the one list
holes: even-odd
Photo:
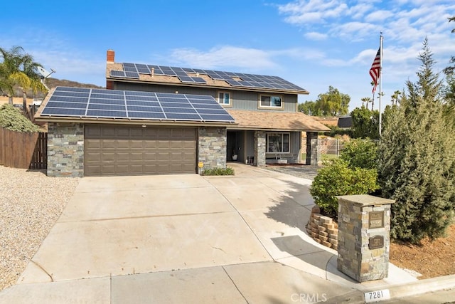
[(392, 264), (385, 280), (344, 276), (304, 232), (311, 180), (229, 165), (234, 177), (81, 179), (0, 303), (349, 303), (434, 288)]

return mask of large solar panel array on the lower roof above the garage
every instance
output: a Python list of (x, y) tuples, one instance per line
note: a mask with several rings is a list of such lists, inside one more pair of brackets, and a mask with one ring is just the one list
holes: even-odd
[(57, 87), (41, 116), (235, 122), (212, 96)]

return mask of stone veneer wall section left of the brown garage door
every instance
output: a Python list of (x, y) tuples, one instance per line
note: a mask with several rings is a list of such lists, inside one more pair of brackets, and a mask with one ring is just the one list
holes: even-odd
[(84, 175), (84, 125), (48, 123), (48, 176)]

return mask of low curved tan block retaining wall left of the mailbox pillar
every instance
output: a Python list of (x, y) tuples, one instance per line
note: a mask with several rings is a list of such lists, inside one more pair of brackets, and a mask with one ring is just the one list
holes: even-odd
[(328, 248), (338, 250), (338, 224), (328, 216), (320, 214), (319, 206), (311, 209), (311, 216), (306, 224), (306, 232), (314, 241)]

